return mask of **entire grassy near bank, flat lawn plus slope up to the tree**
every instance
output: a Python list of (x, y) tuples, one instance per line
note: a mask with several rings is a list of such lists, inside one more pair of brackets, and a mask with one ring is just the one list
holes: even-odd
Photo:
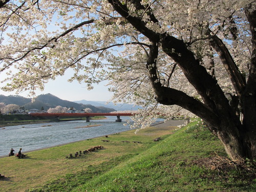
[[(7, 178), (0, 191), (255, 191), (255, 169), (233, 166), (216, 137), (195, 123), (170, 135), (174, 129), (150, 127), (31, 152), (26, 159), (2, 158)], [(104, 149), (65, 158), (95, 145)]]

